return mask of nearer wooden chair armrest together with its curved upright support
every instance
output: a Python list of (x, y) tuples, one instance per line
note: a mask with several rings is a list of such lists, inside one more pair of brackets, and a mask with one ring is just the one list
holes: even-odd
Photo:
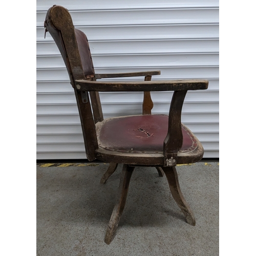
[(188, 90), (205, 90), (208, 80), (162, 80), (162, 81), (128, 81), (99, 82), (75, 80), (75, 89), (80, 93), (98, 92), (157, 92), (175, 91), (170, 103), (168, 132), (163, 143), (163, 166), (176, 166), (178, 151), (182, 146), (181, 110)]

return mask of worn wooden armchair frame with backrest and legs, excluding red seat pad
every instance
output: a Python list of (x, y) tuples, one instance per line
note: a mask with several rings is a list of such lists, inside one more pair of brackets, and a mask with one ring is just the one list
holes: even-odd
[[(110, 163), (101, 183), (115, 172), (118, 163), (123, 163), (114, 210), (106, 230), (105, 243), (114, 239), (118, 222), (122, 215), (130, 179), (135, 166), (155, 166), (159, 176), (165, 174), (170, 192), (181, 208), (186, 222), (195, 225), (193, 212), (185, 201), (179, 186), (175, 166), (181, 163), (194, 163), (203, 157), (203, 147), (198, 141), (195, 151), (179, 152), (183, 142), (181, 131), (181, 110), (188, 90), (205, 90), (207, 80), (161, 80), (151, 81), (152, 75), (160, 71), (146, 71), (121, 74), (95, 74), (90, 48), (86, 35), (74, 28), (69, 11), (62, 6), (53, 6), (48, 10), (45, 21), (49, 31), (66, 64), (72, 87), (74, 88), (79, 116), (81, 120), (84, 145), (89, 161), (100, 160)], [(97, 81), (101, 78), (144, 76), (144, 81)], [(133, 154), (108, 151), (98, 144), (97, 127), (103, 121), (99, 92), (144, 92), (143, 115), (151, 115), (153, 102), (150, 92), (174, 91), (170, 103), (168, 132), (163, 141), (163, 152), (152, 154)], [(89, 97), (90, 93), (90, 97)], [(91, 106), (92, 104), (92, 106)], [(196, 137), (195, 137), (196, 138)]]

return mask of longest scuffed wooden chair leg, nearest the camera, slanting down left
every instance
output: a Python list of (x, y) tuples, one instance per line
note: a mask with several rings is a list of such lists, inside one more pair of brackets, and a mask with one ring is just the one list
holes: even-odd
[(120, 184), (118, 187), (118, 196), (116, 199), (116, 204), (114, 206), (114, 209), (110, 218), (108, 229), (106, 230), (106, 235), (105, 235), (106, 244), (110, 244), (115, 237), (115, 232), (116, 232), (116, 229), (117, 229), (117, 226), (126, 202), (126, 196), (127, 196), (129, 183), (130, 183), (133, 170), (134, 170), (134, 166), (129, 166), (127, 164), (123, 165), (123, 169), (120, 177)]

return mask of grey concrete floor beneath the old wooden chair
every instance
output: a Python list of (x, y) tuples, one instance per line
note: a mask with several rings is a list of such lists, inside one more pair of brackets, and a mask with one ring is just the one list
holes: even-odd
[[(74, 166), (75, 165), (75, 166)], [(37, 164), (37, 255), (219, 255), (219, 164), (177, 166), (196, 226), (185, 222), (165, 177), (136, 167), (116, 237), (104, 243), (121, 165), (106, 184), (108, 164)], [(62, 165), (65, 166), (65, 165)]]

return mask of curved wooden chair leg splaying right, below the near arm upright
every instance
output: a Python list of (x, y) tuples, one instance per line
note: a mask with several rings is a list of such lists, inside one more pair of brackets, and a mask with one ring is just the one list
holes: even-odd
[(181, 190), (180, 190), (180, 184), (179, 184), (178, 174), (176, 172), (176, 168), (174, 166), (172, 166), (172, 167), (162, 167), (162, 169), (163, 169), (163, 171), (165, 173), (165, 176), (167, 178), (169, 188), (170, 188), (170, 192), (172, 193), (173, 198), (176, 201), (176, 203), (181, 208), (187, 223), (192, 225), (192, 226), (195, 226), (196, 225), (196, 220), (195, 220), (194, 214), (191, 211), (187, 202), (185, 201), (185, 199), (184, 199), (184, 197), (181, 193)]

